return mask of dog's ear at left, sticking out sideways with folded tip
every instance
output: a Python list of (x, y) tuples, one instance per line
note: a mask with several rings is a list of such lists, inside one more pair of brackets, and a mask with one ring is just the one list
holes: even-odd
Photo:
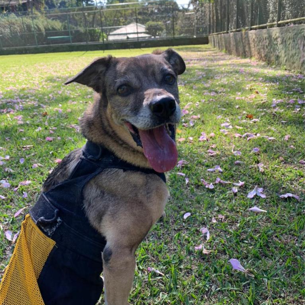
[(84, 68), (84, 70), (66, 81), (65, 85), (76, 82), (91, 87), (96, 92), (101, 92), (102, 79), (110, 65), (111, 60), (111, 56), (101, 57), (94, 60), (89, 66)]

